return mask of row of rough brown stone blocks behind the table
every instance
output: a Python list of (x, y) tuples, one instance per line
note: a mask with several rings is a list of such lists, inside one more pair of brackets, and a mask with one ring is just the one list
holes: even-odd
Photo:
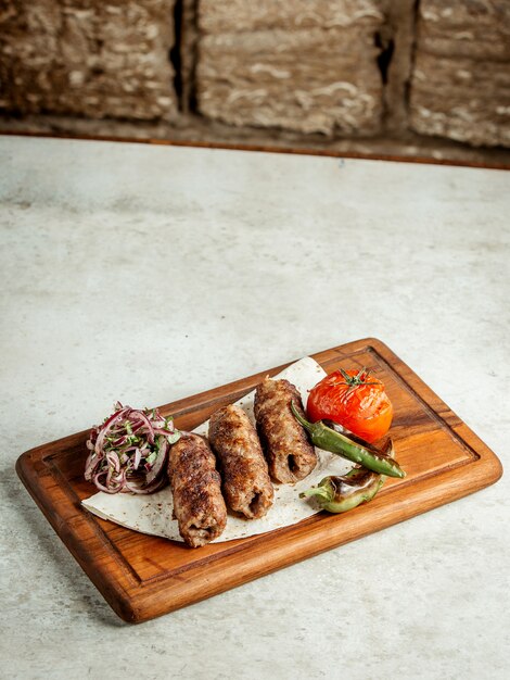
[(0, 0), (0, 112), (510, 147), (510, 0)]

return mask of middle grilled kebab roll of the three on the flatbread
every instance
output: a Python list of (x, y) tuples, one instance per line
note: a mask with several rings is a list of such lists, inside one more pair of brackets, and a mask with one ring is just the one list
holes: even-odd
[(214, 413), (209, 441), (220, 463), (228, 505), (248, 519), (263, 517), (275, 491), (257, 432), (244, 411), (231, 404)]

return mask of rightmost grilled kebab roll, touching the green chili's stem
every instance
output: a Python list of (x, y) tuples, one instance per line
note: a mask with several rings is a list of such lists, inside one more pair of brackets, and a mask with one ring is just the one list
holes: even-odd
[(271, 477), (284, 483), (304, 479), (317, 464), (315, 449), (292, 414), (291, 402), (304, 415), (299, 392), (289, 380), (266, 378), (257, 387), (258, 436)]

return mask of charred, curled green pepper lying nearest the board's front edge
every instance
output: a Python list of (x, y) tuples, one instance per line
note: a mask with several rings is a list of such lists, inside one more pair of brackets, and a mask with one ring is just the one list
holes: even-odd
[(301, 499), (317, 496), (321, 509), (345, 513), (373, 499), (384, 483), (385, 476), (364, 467), (355, 467), (343, 477), (324, 477), (318, 487), (303, 493)]

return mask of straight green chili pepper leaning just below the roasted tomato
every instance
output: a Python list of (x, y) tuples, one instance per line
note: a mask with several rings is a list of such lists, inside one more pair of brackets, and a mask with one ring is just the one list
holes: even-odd
[(388, 477), (405, 477), (406, 473), (401, 469), (396, 461), (393, 459), (393, 443), (388, 440), (384, 450), (380, 451), (368, 442), (362, 440), (350, 439), (345, 435), (341, 435), (331, 427), (328, 427), (318, 420), (317, 423), (308, 423), (297, 412), (294, 403), (291, 403), (291, 410), (296, 420), (305, 428), (309, 433), (311, 443), (319, 449), (335, 453), (347, 461), (358, 463), (364, 467), (379, 473), (380, 475), (387, 475)]

